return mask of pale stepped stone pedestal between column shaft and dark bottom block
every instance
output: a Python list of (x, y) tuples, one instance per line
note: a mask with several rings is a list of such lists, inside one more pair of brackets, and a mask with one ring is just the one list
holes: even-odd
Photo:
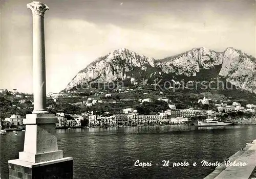
[(57, 121), (54, 114), (26, 115), (23, 120), (26, 124), (24, 151), (19, 152), (20, 160), (38, 163), (63, 158), (54, 136)]

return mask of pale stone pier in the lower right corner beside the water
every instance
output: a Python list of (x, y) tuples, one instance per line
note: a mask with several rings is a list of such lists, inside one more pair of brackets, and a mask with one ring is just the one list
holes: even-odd
[(228, 158), (230, 163), (236, 161), (237, 163), (246, 163), (246, 166), (226, 166), (223, 162), (221, 166), (207, 175), (204, 179), (221, 179), (221, 178), (256, 178), (256, 139), (251, 143), (247, 143), (244, 148), (241, 148)]

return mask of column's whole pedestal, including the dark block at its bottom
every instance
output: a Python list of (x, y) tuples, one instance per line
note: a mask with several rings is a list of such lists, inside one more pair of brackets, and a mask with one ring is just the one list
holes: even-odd
[(11, 178), (73, 178), (73, 158), (63, 158), (55, 134), (54, 114), (28, 114), (24, 151), (19, 159), (8, 161)]

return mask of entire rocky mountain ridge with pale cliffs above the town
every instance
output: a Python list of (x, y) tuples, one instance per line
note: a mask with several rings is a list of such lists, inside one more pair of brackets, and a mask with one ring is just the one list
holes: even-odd
[(76, 86), (90, 82), (121, 80), (133, 84), (143, 78), (151, 84), (156, 79), (209, 80), (217, 77), (225, 77), (232, 85), (256, 93), (256, 60), (231, 47), (224, 52), (193, 48), (161, 60), (121, 48), (96, 59), (79, 71), (65, 90), (73, 90)]

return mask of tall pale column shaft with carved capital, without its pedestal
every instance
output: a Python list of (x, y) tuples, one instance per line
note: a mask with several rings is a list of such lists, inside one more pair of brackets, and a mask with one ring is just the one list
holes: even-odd
[(30, 3), (27, 7), (33, 14), (33, 113), (47, 113), (44, 16), (49, 8), (41, 2)]

